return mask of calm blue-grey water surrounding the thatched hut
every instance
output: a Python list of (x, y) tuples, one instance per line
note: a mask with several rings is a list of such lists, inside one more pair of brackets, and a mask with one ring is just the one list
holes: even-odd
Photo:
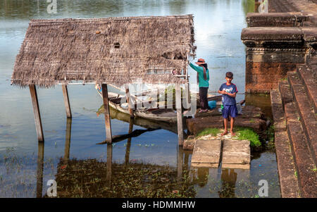
[[(107, 146), (97, 145), (105, 139), (105, 129), (104, 116), (97, 114), (102, 101), (94, 87), (68, 87), (73, 111), (71, 139), (67, 136), (70, 126), (66, 124), (61, 87), (38, 89), (45, 144), (43, 175), (37, 175), (37, 170), (42, 170), (37, 166), (42, 147), (39, 148), (37, 143), (30, 93), (28, 89), (10, 85), (15, 56), (30, 19), (192, 13), (197, 56), (205, 58), (211, 71), (209, 90), (216, 91), (224, 82), (225, 72), (230, 70), (234, 73), (239, 92), (244, 93), (245, 52), (240, 34), (246, 27), (246, 13), (254, 9), (251, 0), (57, 2), (57, 13), (49, 14), (44, 0), (0, 0), (0, 197), (37, 197), (37, 192), (44, 195), (47, 180), (55, 179), (60, 158), (68, 152), (69, 158), (77, 160), (107, 159)], [(189, 70), (189, 75), (195, 76), (194, 70)], [(194, 82), (195, 77), (190, 80)], [(242, 94), (237, 96), (237, 100), (244, 99)], [(256, 104), (253, 97), (247, 99), (250, 99), (247, 104)], [(261, 100), (258, 105), (267, 100)], [(113, 135), (128, 133), (128, 122), (120, 118), (111, 122)], [(133, 130), (136, 129), (144, 127), (134, 125)], [(190, 166), (191, 153), (179, 152), (178, 137), (171, 131), (156, 130), (132, 138), (128, 161), (177, 168), (178, 161), (181, 161), (178, 160), (179, 153), (184, 157), (184, 167)], [(127, 140), (113, 145), (113, 163), (125, 163), (127, 146)], [(202, 175), (207, 177), (199, 177)], [(194, 179), (199, 179), (194, 181), (196, 197), (256, 197), (258, 182), (262, 179), (268, 180), (269, 197), (280, 197), (274, 153), (265, 152), (254, 157), (250, 170), (201, 168), (194, 173)]]

